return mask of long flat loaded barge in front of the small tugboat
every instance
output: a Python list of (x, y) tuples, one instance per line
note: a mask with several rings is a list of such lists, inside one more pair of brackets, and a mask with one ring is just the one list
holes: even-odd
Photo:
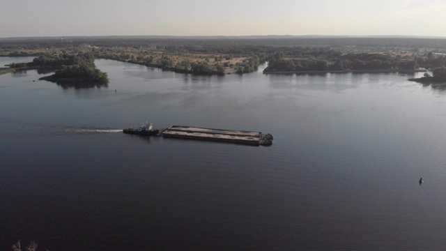
[(160, 134), (162, 137), (231, 142), (238, 144), (250, 144), (254, 146), (270, 146), (272, 144), (272, 135), (269, 133), (263, 134), (261, 132), (250, 132), (245, 130), (222, 130), (192, 126), (170, 126), (169, 128), (163, 130)]

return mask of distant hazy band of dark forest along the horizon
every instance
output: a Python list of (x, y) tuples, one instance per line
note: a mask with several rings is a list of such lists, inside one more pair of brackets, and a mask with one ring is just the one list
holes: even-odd
[(410, 37), (276, 37), (245, 36), (233, 37), (155, 37), (155, 36), (114, 36), (114, 37), (48, 37), (48, 38), (0, 38), (1, 50), (25, 50), (54, 47), (76, 47), (84, 43), (98, 47), (177, 47), (187, 52), (233, 53), (252, 47), (332, 47), (336, 50), (365, 50), (380, 48), (397, 50), (398, 48), (429, 48), (429, 50), (446, 50), (444, 38), (410, 38)]

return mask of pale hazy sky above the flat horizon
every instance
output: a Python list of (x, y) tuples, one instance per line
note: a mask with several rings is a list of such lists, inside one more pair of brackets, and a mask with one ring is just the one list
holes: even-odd
[(0, 38), (446, 36), (445, 0), (0, 0)]

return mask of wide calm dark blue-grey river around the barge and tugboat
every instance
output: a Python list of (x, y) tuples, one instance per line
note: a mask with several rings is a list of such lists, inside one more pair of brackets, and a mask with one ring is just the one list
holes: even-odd
[[(446, 249), (446, 91), (422, 73), (96, 65), (108, 86), (0, 75), (0, 250)], [(121, 132), (145, 121), (274, 141)]]

